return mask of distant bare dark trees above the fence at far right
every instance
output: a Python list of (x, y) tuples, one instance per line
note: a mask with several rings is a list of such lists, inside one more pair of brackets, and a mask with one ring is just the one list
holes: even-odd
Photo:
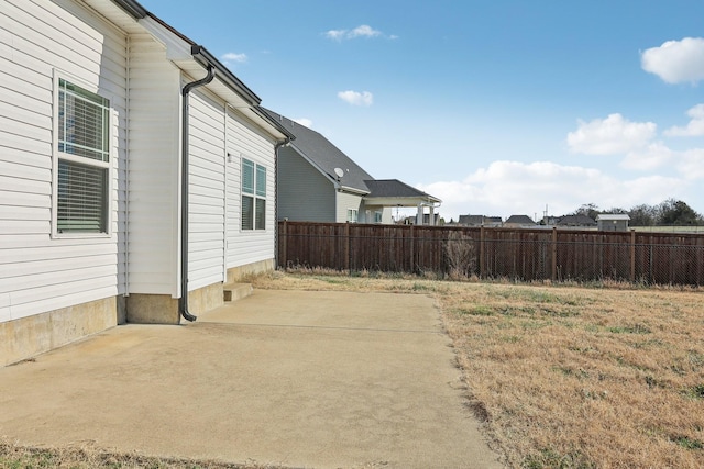
[(626, 213), (630, 216), (630, 226), (702, 226), (704, 216), (692, 209), (686, 202), (675, 199), (668, 199), (657, 205), (640, 204), (630, 210), (612, 208), (600, 210), (593, 203), (586, 203), (575, 210), (570, 215), (586, 215), (596, 220), (597, 215), (604, 213)]

